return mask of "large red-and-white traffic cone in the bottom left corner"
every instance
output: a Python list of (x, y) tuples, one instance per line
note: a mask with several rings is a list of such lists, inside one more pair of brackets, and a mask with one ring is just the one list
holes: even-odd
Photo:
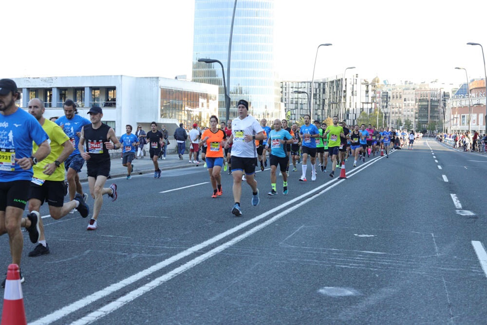
[(1, 313), (1, 325), (26, 325), (24, 298), (20, 285), (19, 266), (10, 264), (5, 281), (5, 293), (3, 294), (3, 311)]

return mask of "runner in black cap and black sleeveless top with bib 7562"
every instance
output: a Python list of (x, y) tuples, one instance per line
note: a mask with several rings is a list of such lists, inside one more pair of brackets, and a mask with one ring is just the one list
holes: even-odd
[[(92, 123), (85, 125), (81, 130), (78, 149), (83, 159), (86, 160), (90, 194), (94, 198), (93, 216), (87, 230), (95, 230), (97, 228), (98, 214), (103, 204), (103, 194), (108, 194), (112, 201), (117, 199), (116, 184), (110, 185), (109, 188), (103, 187), (110, 174), (110, 154), (108, 150), (118, 150), (122, 145), (118, 142), (115, 131), (101, 122), (103, 111), (99, 106), (92, 106), (88, 114)], [(87, 139), (86, 148), (84, 147), (85, 139)], [(157, 159), (157, 155), (155, 157)]]

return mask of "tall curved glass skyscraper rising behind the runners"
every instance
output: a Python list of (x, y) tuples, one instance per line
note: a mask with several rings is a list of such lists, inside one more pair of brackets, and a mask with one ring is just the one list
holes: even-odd
[[(220, 60), (228, 80), (233, 5), (232, 0), (195, 0), (192, 81), (220, 86), (220, 118), (225, 118), (222, 67), (198, 59)], [(230, 62), (230, 118), (237, 116), (239, 99), (249, 101), (250, 114), (256, 118), (283, 118), (280, 82), (274, 71), (274, 0), (237, 1)]]

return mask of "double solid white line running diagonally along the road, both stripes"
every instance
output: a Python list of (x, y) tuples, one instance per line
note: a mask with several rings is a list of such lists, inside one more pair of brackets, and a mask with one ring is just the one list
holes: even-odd
[[(347, 177), (348, 178), (353, 177), (356, 173), (365, 170), (366, 168), (372, 166), (377, 161), (379, 161), (380, 159), (383, 159), (383, 158), (385, 158), (385, 156), (375, 158), (373, 161), (370, 161), (369, 164), (360, 165), (353, 172), (351, 172), (349, 175), (347, 175)], [(132, 301), (133, 299), (135, 299), (136, 297), (138, 297), (139, 295), (147, 292), (147, 291), (144, 291), (144, 292), (141, 292), (141, 291), (151, 290), (151, 289), (155, 288), (156, 286), (162, 284), (163, 282), (168, 281), (170, 278), (186, 271), (189, 268), (192, 268), (193, 266), (203, 262), (207, 258), (209, 258), (209, 257), (213, 256), (214, 254), (216, 254), (217, 252), (219, 252), (220, 249), (223, 250), (223, 249), (230, 247), (231, 245), (236, 244), (237, 242), (239, 242), (240, 240), (249, 236), (253, 232), (260, 230), (263, 227), (266, 227), (267, 225), (278, 220), (282, 216), (288, 214), (290, 211), (293, 211), (293, 210), (301, 207), (302, 205), (308, 203), (312, 199), (317, 198), (320, 194), (322, 194), (326, 191), (329, 191), (330, 189), (332, 189), (333, 187), (337, 186), (338, 184), (340, 184), (341, 182), (344, 182), (344, 181), (345, 181), (345, 179), (334, 178), (334, 179), (324, 183), (323, 185), (318, 186), (317, 188), (315, 188), (315, 189), (313, 189), (313, 190), (311, 190), (305, 194), (302, 194), (302, 195), (300, 195), (300, 196), (298, 196), (298, 197), (296, 197), (296, 198), (294, 198), (294, 199), (292, 199), (292, 200), (290, 200), (284, 204), (281, 204), (280, 206), (278, 206), (274, 209), (268, 210), (267, 212), (264, 212), (261, 215), (258, 215), (258, 216), (254, 217), (254, 218), (252, 218), (252, 219), (250, 219), (250, 220), (248, 220), (248, 221), (246, 221), (246, 222), (244, 222), (244, 223), (242, 223), (242, 224), (240, 224), (240, 225), (238, 225), (232, 229), (228, 229), (228, 230), (226, 230), (226, 231), (204, 241), (201, 244), (190, 247), (190, 248), (188, 248), (188, 249), (186, 249), (186, 250), (184, 250), (184, 251), (182, 251), (176, 255), (169, 257), (168, 259), (166, 259), (162, 262), (159, 262), (159, 263), (151, 266), (150, 268), (146, 268), (146, 269), (144, 269), (144, 270), (142, 270), (142, 271), (140, 271), (140, 272), (138, 272), (138, 273), (136, 273), (136, 274), (134, 274), (128, 278), (121, 280), (118, 283), (114, 283), (108, 287), (105, 287), (99, 291), (96, 291), (96, 292), (94, 292), (94, 293), (92, 293), (92, 294), (90, 294), (84, 298), (81, 298), (81, 299), (75, 301), (74, 303), (72, 303), (68, 306), (64, 306), (60, 309), (57, 309), (53, 313), (46, 315), (40, 319), (37, 319), (36, 321), (29, 323), (29, 324), (30, 325), (40, 325), (40, 324), (51, 324), (53, 322), (56, 322), (57, 320), (65, 317), (65, 316), (67, 316), (67, 315), (69, 315), (69, 314), (71, 314), (71, 313), (73, 313), (79, 309), (82, 309), (85, 306), (88, 306), (88, 305), (94, 303), (95, 301), (112, 294), (113, 292), (116, 292), (116, 291), (118, 291), (124, 287), (127, 287), (127, 286), (133, 284), (134, 282), (139, 281), (140, 279), (143, 279), (143, 278), (147, 277), (148, 275), (150, 275), (150, 274), (152, 274), (152, 273), (154, 273), (154, 272), (156, 272), (162, 268), (165, 268), (168, 265), (170, 265), (174, 262), (177, 262), (177, 261), (183, 259), (184, 257), (188, 256), (188, 255), (193, 254), (194, 252), (201, 251), (202, 249), (205, 249), (206, 247), (222, 240), (223, 238), (239, 231), (240, 229), (244, 229), (245, 227), (247, 227), (248, 225), (251, 225), (252, 223), (255, 223), (255, 222), (257, 222), (257, 221), (259, 221), (259, 220), (261, 220), (261, 219), (263, 219), (269, 215), (272, 215), (278, 211), (281, 211), (281, 213), (275, 215), (273, 218), (265, 221), (264, 223), (260, 224), (259, 226), (256, 226), (253, 229), (248, 230), (247, 232), (243, 233), (242, 235), (240, 235), (238, 237), (235, 237), (234, 239), (228, 241), (227, 243), (225, 243), (225, 244), (223, 244), (223, 245), (221, 245), (215, 249), (212, 249), (203, 255), (198, 256), (197, 258), (187, 262), (185, 265), (182, 265), (179, 268), (175, 268), (174, 270), (170, 271), (166, 275), (163, 275), (163, 276), (153, 280), (149, 284), (146, 284), (142, 287), (139, 287), (138, 289), (135, 289), (134, 291), (129, 292), (127, 295), (120, 297), (116, 301), (113, 301), (111, 304), (106, 305), (105, 307), (112, 306), (111, 308), (108, 308), (109, 309), (108, 311), (102, 311), (101, 310), (101, 309), (104, 309), (105, 307), (98, 309), (97, 311), (90, 314), (91, 317), (89, 318), (88, 323), (93, 322), (95, 319), (107, 315), (109, 312), (112, 312), (113, 310), (121, 307), (123, 304), (126, 304), (126, 303)], [(295, 206), (292, 206), (295, 202), (298, 202), (298, 201), (302, 200), (303, 198), (305, 198), (306, 196), (313, 194), (313, 193), (325, 188), (326, 186), (328, 186), (329, 184), (331, 184), (333, 182), (335, 182), (335, 184), (331, 185), (329, 188), (326, 188), (326, 189), (322, 190), (321, 192), (319, 192), (318, 194), (313, 195), (313, 196), (309, 197), (308, 199), (305, 199), (305, 200), (299, 202)], [(289, 208), (288, 210), (282, 210), (284, 207), (286, 207), (288, 205), (291, 205), (291, 208)], [(128, 296), (130, 296), (130, 298)], [(119, 305), (119, 304), (122, 304), (122, 305)], [(117, 305), (117, 306), (115, 306), (115, 305)], [(94, 313), (96, 313), (96, 315)], [(95, 319), (93, 318), (94, 316), (96, 316)], [(86, 316), (86, 317), (88, 317), (88, 316)], [(81, 321), (81, 320), (82, 319), (80, 319), (79, 321)], [(86, 324), (86, 323), (73, 323), (73, 324)]]

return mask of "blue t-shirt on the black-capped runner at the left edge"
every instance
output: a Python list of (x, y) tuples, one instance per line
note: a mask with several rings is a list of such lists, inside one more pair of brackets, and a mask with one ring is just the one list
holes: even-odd
[(40, 145), (49, 137), (37, 119), (18, 108), (14, 114), (0, 114), (0, 182), (32, 180), (32, 168), (23, 170), (15, 158), (30, 157), (32, 142)]

